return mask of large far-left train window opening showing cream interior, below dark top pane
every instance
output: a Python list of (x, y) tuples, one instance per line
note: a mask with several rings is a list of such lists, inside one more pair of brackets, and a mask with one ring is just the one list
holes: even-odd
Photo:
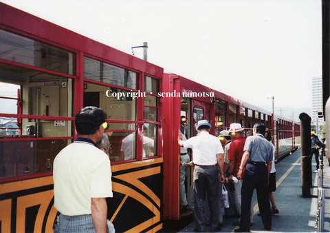
[[(14, 81), (15, 84), (0, 83), (1, 86), (3, 84), (3, 87), (8, 87), (0, 90), (1, 106), (3, 106), (1, 113), (7, 111), (11, 114), (36, 116), (28, 118), (12, 116), (13, 121), (17, 121), (17, 126), (14, 127), (15, 135), (19, 132), (19, 136), (71, 136), (71, 122), (67, 119), (54, 120), (49, 117), (72, 117), (72, 79), (7, 65), (2, 68), (3, 70), (0, 68), (1, 74), (6, 74), (4, 79), (8, 77), (8, 83)], [(13, 98), (15, 95), (16, 97)]]

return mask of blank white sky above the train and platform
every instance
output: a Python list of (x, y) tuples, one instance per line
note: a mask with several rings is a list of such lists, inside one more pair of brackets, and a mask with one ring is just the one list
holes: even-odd
[[(3, 0), (272, 112), (311, 114), (322, 77), (321, 0)], [(143, 58), (142, 49), (134, 50)]]

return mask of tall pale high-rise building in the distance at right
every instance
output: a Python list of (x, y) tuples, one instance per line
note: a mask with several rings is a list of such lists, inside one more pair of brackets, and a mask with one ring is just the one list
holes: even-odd
[(322, 77), (314, 77), (311, 83), (313, 96), (313, 112), (311, 116), (311, 124), (315, 125), (316, 131), (320, 131), (320, 125), (325, 125), (323, 117), (323, 99), (322, 99)]

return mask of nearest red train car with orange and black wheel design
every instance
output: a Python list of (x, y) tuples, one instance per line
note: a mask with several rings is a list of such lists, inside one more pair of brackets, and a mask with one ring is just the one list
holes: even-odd
[(162, 103), (152, 93), (163, 68), (3, 3), (0, 15), (1, 232), (52, 232), (50, 166), (86, 105), (107, 114), (108, 218), (118, 232), (162, 229)]

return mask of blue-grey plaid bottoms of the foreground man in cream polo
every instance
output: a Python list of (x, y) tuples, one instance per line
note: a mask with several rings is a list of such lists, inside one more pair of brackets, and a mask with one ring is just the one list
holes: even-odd
[[(96, 232), (91, 214), (67, 216), (59, 214), (58, 222), (54, 224), (54, 233), (57, 232)], [(113, 224), (107, 220), (108, 232), (115, 232)]]

